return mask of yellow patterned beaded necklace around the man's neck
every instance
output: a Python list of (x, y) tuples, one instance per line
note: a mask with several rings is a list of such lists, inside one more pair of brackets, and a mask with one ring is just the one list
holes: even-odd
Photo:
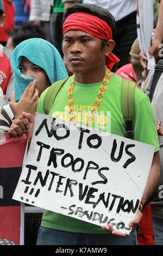
[[(86, 126), (91, 127), (93, 121), (95, 120), (95, 114), (98, 112), (98, 108), (101, 105), (110, 77), (111, 77), (111, 72), (108, 68), (106, 68), (106, 72), (105, 72), (101, 87), (99, 88), (96, 99), (93, 103), (93, 106), (91, 107), (91, 111), (87, 115)], [(70, 83), (70, 87), (68, 88), (68, 114), (69, 114), (69, 121), (76, 123), (76, 114), (75, 114), (74, 105), (73, 105), (73, 87), (74, 87), (74, 77)]]

